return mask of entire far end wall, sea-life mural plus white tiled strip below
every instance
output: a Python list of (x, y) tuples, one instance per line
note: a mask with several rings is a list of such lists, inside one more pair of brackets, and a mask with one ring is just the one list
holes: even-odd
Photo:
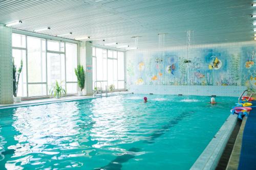
[(127, 51), (127, 88), (191, 95), (238, 96), (246, 88), (256, 92), (255, 55), (254, 41)]

